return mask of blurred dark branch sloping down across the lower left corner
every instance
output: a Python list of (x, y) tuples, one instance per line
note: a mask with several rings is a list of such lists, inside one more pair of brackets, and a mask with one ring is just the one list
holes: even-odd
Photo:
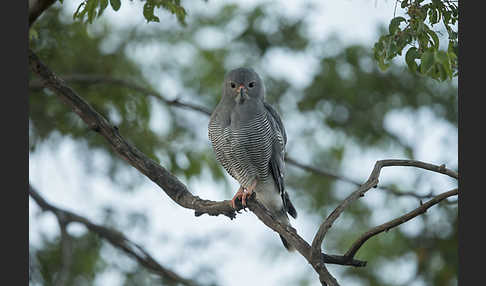
[[(183, 278), (177, 273), (160, 265), (152, 256), (150, 256), (141, 246), (128, 240), (121, 232), (110, 229), (101, 225), (97, 225), (89, 221), (87, 218), (79, 216), (67, 210), (60, 209), (48, 203), (34, 188), (29, 184), (29, 195), (44, 211), (50, 211), (56, 215), (61, 225), (61, 236), (68, 235), (66, 232), (66, 225), (71, 222), (78, 222), (86, 226), (90, 231), (98, 234), (100, 237), (106, 239), (114, 247), (123, 250), (129, 256), (135, 258), (141, 265), (158, 274), (160, 277), (181, 283), (187, 286), (195, 286), (192, 280)], [(65, 233), (63, 233), (65, 232)], [(68, 247), (68, 246), (66, 246)], [(65, 251), (65, 244), (63, 243), (63, 254)], [(64, 256), (64, 255), (63, 255)], [(64, 285), (64, 284), (59, 284)]]

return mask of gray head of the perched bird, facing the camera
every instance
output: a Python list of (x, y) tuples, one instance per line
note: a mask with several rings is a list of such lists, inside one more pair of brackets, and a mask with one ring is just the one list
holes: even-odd
[(247, 99), (263, 100), (265, 86), (260, 76), (251, 68), (237, 68), (224, 77), (223, 97), (232, 98), (237, 103)]

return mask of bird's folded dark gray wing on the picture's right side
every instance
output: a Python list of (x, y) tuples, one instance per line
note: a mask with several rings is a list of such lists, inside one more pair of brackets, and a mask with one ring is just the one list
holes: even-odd
[(285, 146), (287, 144), (287, 133), (282, 123), (282, 119), (277, 111), (268, 103), (263, 105), (267, 110), (268, 119), (272, 130), (276, 134), (276, 139), (272, 146), (272, 156), (270, 158), (270, 171), (277, 184), (279, 193), (282, 197), (285, 210), (294, 218), (297, 218), (297, 211), (290, 201), (288, 193), (285, 191), (284, 172), (285, 172)]

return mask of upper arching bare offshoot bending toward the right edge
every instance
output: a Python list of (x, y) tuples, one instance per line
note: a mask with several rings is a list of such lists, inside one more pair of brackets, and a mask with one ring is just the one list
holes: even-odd
[(372, 187), (376, 187), (378, 185), (378, 177), (380, 176), (381, 169), (383, 167), (390, 167), (390, 166), (408, 166), (408, 167), (417, 167), (426, 170), (430, 170), (433, 172), (442, 173), (453, 177), (455, 179), (459, 178), (459, 174), (453, 170), (447, 169), (444, 165), (436, 166), (429, 163), (424, 163), (421, 161), (416, 160), (380, 160), (377, 161), (373, 171), (371, 172), (368, 180), (358, 188), (358, 190), (354, 191), (349, 195), (341, 204), (339, 204), (336, 209), (326, 218), (326, 220), (321, 224), (319, 230), (317, 231), (314, 240), (312, 241), (312, 254), (311, 256), (313, 259), (318, 259), (321, 253), (321, 245), (324, 237), (331, 228), (334, 221), (341, 215), (344, 209), (357, 198), (364, 196), (364, 194), (371, 189)]

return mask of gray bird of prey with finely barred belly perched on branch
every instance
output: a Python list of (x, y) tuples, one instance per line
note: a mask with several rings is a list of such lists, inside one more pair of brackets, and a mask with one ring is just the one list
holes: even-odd
[[(265, 87), (251, 68), (237, 68), (224, 77), (223, 95), (211, 114), (208, 135), (216, 159), (238, 181), (235, 200), (255, 199), (282, 224), (297, 211), (284, 185), (287, 135), (277, 111), (264, 101)], [(282, 237), (285, 248), (294, 248)]]

